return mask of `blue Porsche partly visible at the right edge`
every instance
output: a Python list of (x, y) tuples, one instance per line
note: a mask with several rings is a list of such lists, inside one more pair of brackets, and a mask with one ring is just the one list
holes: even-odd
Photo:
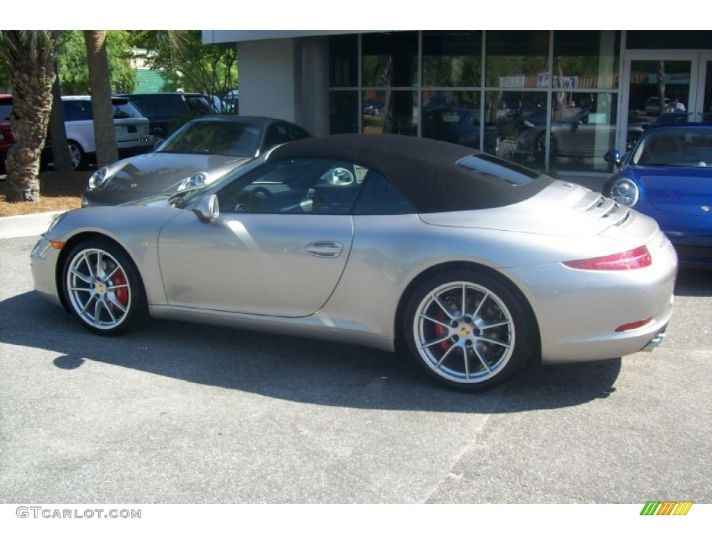
[(655, 219), (681, 263), (712, 266), (712, 124), (661, 123), (621, 157), (603, 194)]

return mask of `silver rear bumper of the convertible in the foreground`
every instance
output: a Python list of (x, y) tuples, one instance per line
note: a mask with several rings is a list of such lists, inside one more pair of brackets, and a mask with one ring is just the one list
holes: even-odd
[[(676, 253), (661, 238), (648, 244), (652, 265), (632, 271), (561, 264), (515, 269), (538, 322), (543, 363), (607, 360), (660, 344), (673, 313), (677, 274)], [(642, 326), (633, 328), (635, 323)]]

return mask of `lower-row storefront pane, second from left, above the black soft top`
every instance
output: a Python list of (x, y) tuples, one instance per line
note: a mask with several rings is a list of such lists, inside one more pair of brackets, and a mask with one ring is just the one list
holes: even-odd
[(367, 90), (362, 96), (363, 133), (417, 135), (417, 98), (412, 90)]

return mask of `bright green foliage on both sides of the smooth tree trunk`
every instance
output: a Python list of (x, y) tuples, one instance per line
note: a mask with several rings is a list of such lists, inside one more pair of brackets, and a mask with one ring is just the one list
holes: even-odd
[[(136, 70), (131, 64), (132, 35), (125, 30), (106, 30), (105, 45), (109, 83), (113, 93), (130, 93), (136, 85)], [(58, 75), (62, 93), (91, 93), (87, 47), (82, 30), (66, 31), (58, 55)]]

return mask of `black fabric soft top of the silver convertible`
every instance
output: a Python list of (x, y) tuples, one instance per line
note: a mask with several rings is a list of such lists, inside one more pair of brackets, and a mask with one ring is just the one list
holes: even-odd
[[(346, 134), (281, 145), (269, 155), (268, 162), (318, 157), (359, 164), (389, 179), (421, 213), (508, 206), (533, 197), (554, 181), (540, 175), (515, 185), (494, 173), (478, 172), (457, 164), (471, 155), (481, 155), (481, 152), (422, 137)], [(489, 155), (482, 156), (508, 169), (518, 167)], [(533, 177), (528, 169), (518, 168)]]

